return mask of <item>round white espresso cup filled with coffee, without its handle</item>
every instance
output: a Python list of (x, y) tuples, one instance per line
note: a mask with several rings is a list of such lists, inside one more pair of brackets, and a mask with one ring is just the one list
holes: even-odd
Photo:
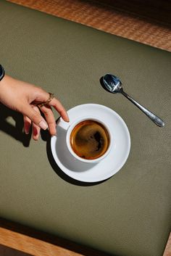
[(80, 117), (67, 129), (67, 148), (81, 162), (96, 163), (109, 154), (113, 138), (111, 128), (99, 117)]

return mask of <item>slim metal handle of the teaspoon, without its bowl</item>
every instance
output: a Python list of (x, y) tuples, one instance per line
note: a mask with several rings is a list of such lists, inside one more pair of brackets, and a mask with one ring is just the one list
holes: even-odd
[(154, 113), (152, 113), (151, 111), (147, 110), (146, 107), (143, 107), (141, 104), (136, 102), (135, 99), (133, 99), (128, 94), (126, 94), (125, 91), (122, 91), (122, 94), (127, 99), (129, 99), (130, 102), (133, 102), (133, 104), (135, 104), (135, 106), (137, 106), (140, 110), (142, 110), (144, 112), (144, 114), (146, 114), (156, 125), (158, 125), (159, 127), (163, 127), (164, 126), (164, 122), (162, 121), (162, 119), (157, 117), (157, 115), (154, 115)]

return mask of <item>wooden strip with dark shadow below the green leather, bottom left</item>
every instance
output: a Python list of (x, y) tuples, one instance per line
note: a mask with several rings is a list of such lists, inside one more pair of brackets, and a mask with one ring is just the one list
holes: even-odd
[(2, 218), (0, 244), (34, 256), (109, 256), (104, 252)]

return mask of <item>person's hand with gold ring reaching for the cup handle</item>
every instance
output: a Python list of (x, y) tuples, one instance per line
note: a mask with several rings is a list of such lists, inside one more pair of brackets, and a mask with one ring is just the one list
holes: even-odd
[[(16, 80), (9, 75), (5, 75), (0, 81), (0, 102), (10, 109), (22, 113), (24, 131), (28, 134), (32, 125), (34, 140), (38, 140), (41, 128), (43, 130), (49, 128), (49, 133), (56, 135), (56, 122), (51, 107), (59, 112), (64, 121), (69, 122), (67, 112), (58, 99), (53, 98), (43, 107), (38, 107), (38, 104), (46, 102), (48, 99), (49, 93), (33, 84)], [(41, 116), (41, 112), (46, 120)]]

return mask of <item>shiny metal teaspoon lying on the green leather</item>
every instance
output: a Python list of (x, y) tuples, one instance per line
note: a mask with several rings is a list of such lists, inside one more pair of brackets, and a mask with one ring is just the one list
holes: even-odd
[(135, 101), (135, 99), (131, 98), (128, 94), (123, 91), (122, 88), (122, 83), (119, 78), (117, 78), (115, 75), (111, 74), (106, 74), (103, 76), (103, 83), (104, 83), (104, 88), (111, 92), (112, 94), (122, 94), (124, 95), (127, 99), (130, 100), (130, 102), (133, 102), (135, 106), (137, 106), (140, 110), (144, 112), (156, 125), (159, 127), (164, 126), (164, 122), (162, 119), (157, 117), (157, 115), (154, 115), (151, 111), (147, 110), (145, 107), (143, 107), (141, 104)]

